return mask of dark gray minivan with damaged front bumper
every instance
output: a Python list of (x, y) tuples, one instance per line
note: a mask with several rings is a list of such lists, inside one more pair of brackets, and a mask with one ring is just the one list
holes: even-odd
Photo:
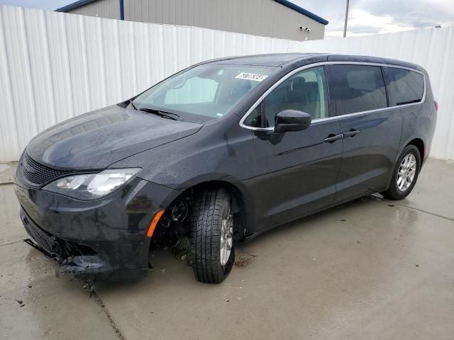
[(370, 193), (414, 188), (438, 104), (416, 64), (273, 54), (196, 64), (31, 140), (16, 174), (26, 242), (60, 273), (131, 279), (187, 237), (197, 280), (235, 242)]

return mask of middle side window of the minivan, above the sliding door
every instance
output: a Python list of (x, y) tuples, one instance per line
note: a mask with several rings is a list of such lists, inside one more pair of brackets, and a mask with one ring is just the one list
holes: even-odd
[(331, 65), (328, 72), (337, 115), (387, 107), (382, 69), (375, 66)]

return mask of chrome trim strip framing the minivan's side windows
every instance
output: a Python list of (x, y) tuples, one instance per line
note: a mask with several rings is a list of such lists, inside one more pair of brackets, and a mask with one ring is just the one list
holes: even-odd
[[(252, 113), (255, 108), (270, 94), (271, 91), (273, 91), (277, 86), (282, 84), (285, 80), (287, 80), (289, 77), (292, 77), (293, 74), (304, 71), (304, 69), (311, 69), (312, 67), (319, 67), (319, 66), (324, 66), (324, 65), (363, 65), (363, 66), (377, 66), (377, 67), (393, 67), (394, 69), (408, 69), (409, 71), (417, 72), (419, 74), (422, 74), (423, 76), (423, 83), (424, 83), (424, 89), (423, 89), (423, 98), (421, 101), (417, 103), (409, 103), (409, 104), (404, 104), (404, 105), (395, 105), (395, 106), (387, 106), (386, 108), (377, 108), (375, 110), (370, 110), (370, 111), (361, 111), (361, 112), (355, 112), (355, 113), (348, 113), (347, 115), (335, 115), (333, 117), (326, 117), (326, 118), (319, 118), (319, 119), (314, 119), (312, 120), (312, 123), (321, 123), (321, 122), (326, 122), (328, 120), (336, 120), (336, 119), (341, 119), (341, 118), (347, 118), (347, 117), (353, 117), (355, 115), (366, 115), (369, 113), (376, 113), (376, 112), (381, 112), (381, 111), (386, 111), (386, 110), (393, 110), (394, 108), (405, 108), (407, 106), (413, 106), (413, 105), (419, 105), (422, 104), (426, 101), (426, 75), (423, 74), (423, 72), (419, 71), (418, 69), (413, 69), (411, 67), (404, 67), (404, 66), (399, 66), (399, 65), (394, 65), (394, 64), (382, 64), (382, 63), (377, 63), (377, 62), (316, 62), (314, 64), (308, 64), (304, 65), (302, 67), (299, 67), (297, 69), (292, 70), (291, 72), (287, 73), (279, 79), (278, 81), (273, 84), (270, 89), (267, 89), (265, 94), (262, 94), (260, 98), (253, 104), (253, 106), (250, 107), (250, 109), (243, 115), (243, 117), (240, 120), (240, 127), (249, 129), (249, 130), (259, 130), (259, 131), (273, 131), (275, 130), (275, 127), (269, 127), (269, 128), (254, 128), (252, 126), (248, 126), (244, 124), (245, 119)], [(328, 79), (327, 79), (328, 81)], [(386, 84), (385, 84), (386, 86)]]

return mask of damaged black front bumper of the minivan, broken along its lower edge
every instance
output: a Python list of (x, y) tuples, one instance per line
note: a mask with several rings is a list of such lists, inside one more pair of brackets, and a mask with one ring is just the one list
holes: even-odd
[(153, 216), (179, 191), (136, 177), (99, 200), (77, 200), (31, 188), (16, 174), (21, 220), (33, 242), (57, 260), (57, 273), (85, 280), (135, 280), (148, 273)]

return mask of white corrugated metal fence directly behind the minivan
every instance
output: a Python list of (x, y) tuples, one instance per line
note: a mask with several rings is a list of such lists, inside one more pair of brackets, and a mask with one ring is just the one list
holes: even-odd
[(417, 62), (440, 103), (431, 156), (454, 159), (454, 28), (297, 42), (0, 6), (0, 162), (38, 132), (118, 103), (201, 60), (343, 52)]

